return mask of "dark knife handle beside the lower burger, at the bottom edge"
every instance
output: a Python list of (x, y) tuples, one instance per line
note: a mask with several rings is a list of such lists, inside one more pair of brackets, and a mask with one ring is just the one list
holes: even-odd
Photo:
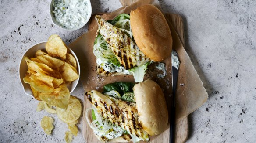
[(175, 143), (175, 106), (171, 107), (170, 116), (170, 143)]

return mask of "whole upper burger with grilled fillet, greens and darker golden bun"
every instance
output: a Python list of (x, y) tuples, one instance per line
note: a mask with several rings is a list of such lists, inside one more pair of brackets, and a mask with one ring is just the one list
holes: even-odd
[(172, 51), (171, 31), (161, 11), (145, 5), (113, 20), (96, 16), (98, 31), (93, 46), (99, 75), (133, 75), (142, 82), (147, 66), (163, 61)]

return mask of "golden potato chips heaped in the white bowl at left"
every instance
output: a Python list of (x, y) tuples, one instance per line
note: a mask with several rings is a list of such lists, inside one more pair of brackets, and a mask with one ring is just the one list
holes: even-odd
[(42, 50), (37, 51), (36, 58), (24, 57), (28, 71), (23, 80), (30, 84), (37, 100), (64, 109), (70, 99), (67, 84), (79, 78), (77, 63), (58, 35), (49, 37), (46, 51), (47, 53)]

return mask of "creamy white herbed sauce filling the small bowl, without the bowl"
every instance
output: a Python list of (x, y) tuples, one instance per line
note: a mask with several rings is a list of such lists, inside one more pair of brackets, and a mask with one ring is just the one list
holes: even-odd
[(88, 0), (54, 0), (53, 15), (63, 28), (73, 29), (85, 23), (88, 15)]

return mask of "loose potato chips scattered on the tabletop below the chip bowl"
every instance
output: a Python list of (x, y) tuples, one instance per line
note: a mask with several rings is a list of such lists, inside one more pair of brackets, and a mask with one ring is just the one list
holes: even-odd
[[(57, 113), (58, 118), (64, 123), (67, 123), (70, 131), (66, 131), (65, 140), (67, 143), (71, 143), (73, 135), (77, 136), (78, 127), (76, 124), (78, 123), (78, 119), (82, 112), (82, 105), (79, 99), (71, 95), (68, 106), (64, 109), (56, 107), (56, 110), (46, 102), (40, 101), (37, 105), (36, 111), (41, 111), (43, 109), (52, 114)], [(41, 120), (41, 127), (47, 135), (50, 135), (54, 128), (53, 121), (53, 118), (50, 116), (44, 116)]]

